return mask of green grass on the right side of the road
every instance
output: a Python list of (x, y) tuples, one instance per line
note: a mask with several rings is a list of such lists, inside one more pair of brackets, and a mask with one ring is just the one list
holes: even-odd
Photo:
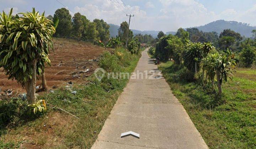
[(256, 81), (250, 79), (255, 70), (238, 69), (223, 85), (223, 104), (215, 106), (202, 85), (174, 78), (180, 69), (172, 62), (159, 69), (210, 148), (256, 148)]

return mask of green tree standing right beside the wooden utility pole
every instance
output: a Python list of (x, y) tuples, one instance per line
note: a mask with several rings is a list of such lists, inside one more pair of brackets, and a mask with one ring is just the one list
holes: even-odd
[(120, 37), (120, 40), (123, 43), (126, 43), (127, 34), (128, 34), (128, 42), (132, 41), (133, 32), (130, 29), (128, 32), (128, 23), (124, 21), (120, 24), (120, 28), (118, 29), (118, 37)]

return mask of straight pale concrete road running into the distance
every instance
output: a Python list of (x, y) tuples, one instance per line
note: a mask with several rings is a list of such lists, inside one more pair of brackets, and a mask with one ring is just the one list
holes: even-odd
[[(147, 51), (142, 52), (135, 74), (92, 148), (208, 148)], [(139, 133), (140, 138), (121, 138), (128, 131)]]

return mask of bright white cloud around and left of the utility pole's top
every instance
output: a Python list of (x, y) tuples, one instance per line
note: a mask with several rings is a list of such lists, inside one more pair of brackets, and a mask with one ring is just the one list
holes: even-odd
[[(118, 3), (119, 2), (119, 3)], [(139, 6), (120, 5), (123, 4), (121, 0), (113, 4), (109, 0), (94, 0), (89, 1), (86, 5), (74, 8), (75, 12), (80, 12), (85, 15), (89, 20), (93, 21), (95, 18), (103, 19), (107, 23), (113, 23), (120, 25), (123, 21), (129, 21), (129, 17), (126, 14), (132, 12), (131, 28), (144, 29), (143, 20), (146, 19), (146, 12), (141, 10)]]

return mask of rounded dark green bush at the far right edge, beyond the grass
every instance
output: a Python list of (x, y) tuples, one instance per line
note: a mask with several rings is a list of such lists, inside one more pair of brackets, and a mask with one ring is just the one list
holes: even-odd
[(252, 49), (251, 47), (248, 47), (241, 51), (240, 53), (241, 66), (249, 68), (252, 66), (254, 60), (255, 60), (254, 49)]

